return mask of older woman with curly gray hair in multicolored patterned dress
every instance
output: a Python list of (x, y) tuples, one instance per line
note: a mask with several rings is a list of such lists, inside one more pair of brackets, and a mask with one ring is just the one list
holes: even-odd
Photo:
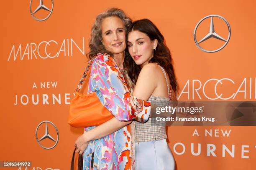
[[(133, 119), (141, 122), (148, 120), (150, 103), (131, 94), (131, 88), (124, 75), (125, 32), (130, 24), (131, 19), (123, 10), (111, 8), (100, 13), (92, 27), (89, 58), (94, 59), (88, 89), (84, 93), (95, 92), (102, 105), (115, 116), (109, 121), (120, 121), (113, 127), (103, 126), (105, 130), (109, 128), (109, 131), (114, 132), (103, 135), (105, 137), (93, 133), (95, 126), (84, 128), (84, 134), (77, 139), (75, 146), (77, 153), (83, 153), (85, 170), (134, 169), (132, 144), (135, 141), (134, 133), (131, 132), (134, 124), (128, 124)], [(90, 121), (90, 117), (87, 121)], [(90, 136), (90, 141), (85, 135), (88, 133), (95, 134)]]

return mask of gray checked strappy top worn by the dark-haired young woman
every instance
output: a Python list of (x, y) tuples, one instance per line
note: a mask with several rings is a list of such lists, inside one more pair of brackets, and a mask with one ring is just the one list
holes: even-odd
[[(166, 72), (163, 67), (161, 67), (160, 65), (158, 66), (164, 73), (169, 94), (169, 83), (166, 76)], [(159, 106), (166, 106), (169, 104), (169, 98), (160, 96), (150, 96), (148, 102)], [(152, 140), (162, 140), (167, 138), (164, 121), (156, 121), (156, 118), (153, 117), (149, 118), (148, 121), (145, 123), (137, 121), (134, 122), (136, 132), (136, 143), (147, 142)]]

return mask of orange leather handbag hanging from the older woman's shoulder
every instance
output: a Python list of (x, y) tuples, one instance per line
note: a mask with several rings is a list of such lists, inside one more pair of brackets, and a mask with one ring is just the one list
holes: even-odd
[[(114, 115), (101, 104), (95, 92), (90, 94), (79, 93), (83, 84), (83, 91), (87, 92), (88, 90), (91, 72), (90, 67), (94, 58), (95, 57), (89, 61), (77, 85), (75, 97), (70, 102), (68, 123), (73, 127), (98, 126), (114, 117)], [(88, 74), (89, 76), (87, 76)]]

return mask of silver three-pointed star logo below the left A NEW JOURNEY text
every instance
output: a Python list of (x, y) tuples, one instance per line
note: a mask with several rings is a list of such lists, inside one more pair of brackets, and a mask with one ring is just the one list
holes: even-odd
[[(55, 130), (56, 130), (56, 132), (57, 132), (57, 139), (56, 139), (56, 140), (55, 140), (53, 137), (51, 137), (51, 135), (49, 134), (49, 130), (48, 130), (48, 125), (47, 125), (47, 123), (50, 123), (51, 125), (54, 126), (54, 128), (55, 128)], [(38, 140), (38, 137), (37, 137), (37, 130), (38, 130), (38, 128), (39, 128), (41, 125), (43, 125), (43, 124), (45, 124), (45, 134)], [(50, 147), (50, 148), (46, 148), (46, 147), (44, 147), (43, 145), (41, 145), (40, 141), (41, 141), (41, 140), (44, 140), (44, 139), (46, 139), (46, 138), (49, 138), (50, 140), (54, 141), (55, 144), (54, 144), (52, 147)], [(53, 122), (50, 122), (50, 121), (45, 120), (45, 121), (39, 123), (39, 125), (38, 125), (37, 128), (36, 128), (36, 140), (37, 140), (38, 144), (39, 144), (42, 148), (44, 148), (44, 149), (52, 149), (52, 148), (54, 148), (54, 147), (57, 145), (57, 143), (58, 143), (58, 141), (59, 141), (59, 131), (58, 131), (58, 129), (56, 128), (56, 126), (53, 124)]]

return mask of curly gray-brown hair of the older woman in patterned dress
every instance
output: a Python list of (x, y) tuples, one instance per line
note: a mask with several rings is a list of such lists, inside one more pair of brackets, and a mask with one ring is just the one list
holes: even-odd
[(110, 8), (103, 13), (97, 15), (94, 25), (92, 26), (91, 32), (91, 40), (90, 40), (90, 52), (87, 56), (91, 59), (98, 52), (107, 53), (110, 56), (113, 56), (112, 53), (106, 50), (105, 46), (102, 44), (102, 31), (101, 31), (101, 23), (102, 20), (108, 17), (118, 17), (123, 21), (125, 25), (125, 30), (131, 25), (132, 21), (129, 17), (125, 15), (123, 10), (118, 8)]

